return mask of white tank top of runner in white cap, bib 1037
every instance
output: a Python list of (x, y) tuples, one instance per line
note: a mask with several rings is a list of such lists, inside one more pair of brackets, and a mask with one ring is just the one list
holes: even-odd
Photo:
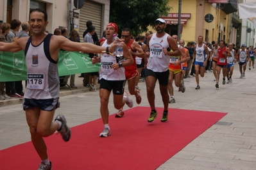
[(147, 68), (153, 72), (166, 72), (168, 70), (170, 57), (163, 52), (163, 48), (167, 49), (169, 47), (168, 36), (166, 33), (158, 38), (154, 33), (149, 41), (150, 55)]

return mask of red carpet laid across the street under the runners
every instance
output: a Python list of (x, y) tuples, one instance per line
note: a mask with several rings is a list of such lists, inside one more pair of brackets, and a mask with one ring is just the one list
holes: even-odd
[[(226, 113), (169, 109), (169, 121), (148, 123), (149, 107), (125, 111), (124, 118), (110, 116), (112, 135), (99, 137), (101, 119), (72, 128), (71, 141), (60, 135), (46, 138), (54, 170), (156, 169), (182, 150)], [(160, 114), (159, 114), (160, 113)], [(0, 151), (0, 169), (35, 170), (40, 163), (31, 142)]]

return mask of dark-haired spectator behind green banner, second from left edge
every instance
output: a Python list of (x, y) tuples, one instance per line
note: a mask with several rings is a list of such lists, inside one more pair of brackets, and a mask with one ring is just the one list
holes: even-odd
[[(7, 41), (9, 43), (11, 42), (15, 42), (15, 40), (18, 39), (16, 33), (19, 31), (19, 29), (21, 28), (21, 21), (17, 20), (17, 19), (13, 19), (11, 21), (11, 29), (7, 35)], [(9, 95), (10, 97), (18, 97), (18, 98), (23, 98), (22, 95), (24, 95), (24, 93), (22, 92), (21, 94), (18, 94), (16, 92), (15, 89), (15, 82), (5, 82), (5, 88), (6, 88), (6, 94)]]

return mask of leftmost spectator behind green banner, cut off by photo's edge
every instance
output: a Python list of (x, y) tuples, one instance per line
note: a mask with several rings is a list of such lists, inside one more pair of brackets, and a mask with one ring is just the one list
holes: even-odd
[[(6, 35), (10, 31), (10, 27), (11, 27), (11, 25), (6, 22), (4, 22), (3, 24), (1, 23), (0, 42), (8, 43)], [(5, 89), (5, 82), (0, 82), (0, 100), (10, 99), (10, 97), (8, 97), (8, 95), (6, 95), (4, 89)]]

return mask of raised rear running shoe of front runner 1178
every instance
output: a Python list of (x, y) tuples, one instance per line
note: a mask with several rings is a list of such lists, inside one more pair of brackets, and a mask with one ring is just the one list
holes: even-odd
[(62, 122), (62, 127), (60, 127), (60, 129), (58, 129), (57, 131), (62, 135), (62, 139), (67, 142), (69, 141), (70, 137), (71, 137), (71, 130), (69, 127), (67, 127), (67, 121), (65, 119), (65, 117), (62, 114), (59, 114), (56, 118), (55, 121), (61, 121)]

